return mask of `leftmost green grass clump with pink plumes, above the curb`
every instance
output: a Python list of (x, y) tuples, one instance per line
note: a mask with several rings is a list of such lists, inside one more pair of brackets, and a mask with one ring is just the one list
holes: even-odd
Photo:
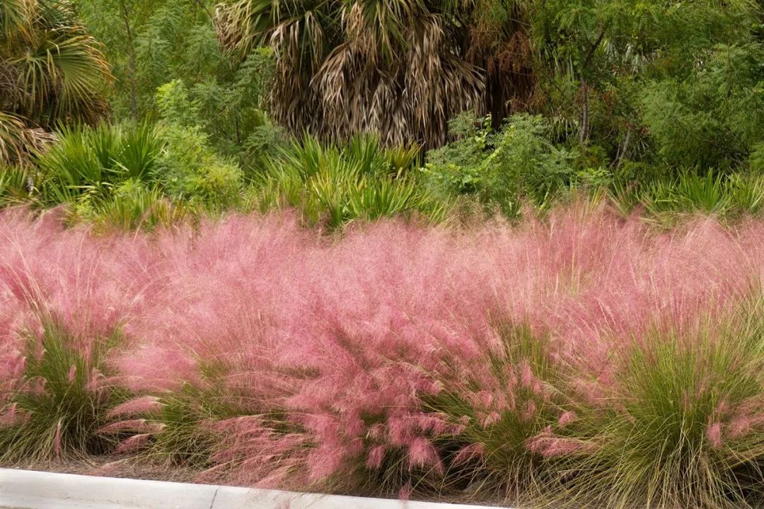
[(98, 430), (107, 422), (108, 411), (126, 397), (104, 379), (109, 373), (106, 358), (116, 340), (117, 335), (92, 338), (92, 347), (83, 353), (82, 338), (52, 319), (45, 321), (41, 337), (29, 334), (18, 387), (3, 398), (2, 411), (17, 419), (0, 426), (2, 461), (107, 452), (112, 441)]

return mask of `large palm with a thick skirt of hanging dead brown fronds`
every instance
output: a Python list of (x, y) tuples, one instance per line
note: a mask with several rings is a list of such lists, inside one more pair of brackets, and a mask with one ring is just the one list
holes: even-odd
[(271, 109), (290, 130), (432, 147), (460, 111), (502, 118), (510, 99), (529, 93), (521, 27), (477, 18), (484, 2), (510, 4), (507, 18), (523, 14), (512, 0), (234, 0), (219, 5), (216, 26), (241, 58), (274, 48)]

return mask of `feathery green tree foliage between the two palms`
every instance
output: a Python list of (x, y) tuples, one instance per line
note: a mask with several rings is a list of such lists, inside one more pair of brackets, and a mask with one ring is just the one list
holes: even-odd
[[(273, 51), (257, 48), (240, 63), (228, 62), (212, 27), (212, 2), (82, 4), (89, 26), (107, 42), (119, 79), (112, 98), (118, 118), (160, 113), (166, 121), (199, 126), (209, 144), (237, 159), (248, 178), (286, 146), (283, 131), (263, 109)], [(157, 89), (163, 92), (157, 95)]]

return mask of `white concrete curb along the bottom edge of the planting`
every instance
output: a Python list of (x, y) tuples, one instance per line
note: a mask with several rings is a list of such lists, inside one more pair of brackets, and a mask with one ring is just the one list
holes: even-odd
[(496, 509), (0, 469), (0, 509)]

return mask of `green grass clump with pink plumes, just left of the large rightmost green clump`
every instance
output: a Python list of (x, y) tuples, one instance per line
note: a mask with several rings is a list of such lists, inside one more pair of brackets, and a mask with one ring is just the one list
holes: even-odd
[(505, 324), (497, 337), (424, 408), (458, 430), (436, 439), (449, 488), (537, 502), (556, 489), (566, 456), (587, 449), (578, 423), (588, 407), (575, 398), (569, 367), (552, 356), (548, 333)]

